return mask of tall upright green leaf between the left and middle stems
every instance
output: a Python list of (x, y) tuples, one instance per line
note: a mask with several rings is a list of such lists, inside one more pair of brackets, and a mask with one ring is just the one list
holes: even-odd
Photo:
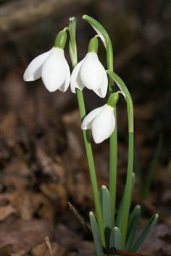
[(109, 237), (112, 229), (112, 207), (111, 196), (109, 190), (105, 185), (102, 185), (100, 191), (101, 211), (104, 224), (104, 236), (106, 240), (106, 246), (109, 247)]

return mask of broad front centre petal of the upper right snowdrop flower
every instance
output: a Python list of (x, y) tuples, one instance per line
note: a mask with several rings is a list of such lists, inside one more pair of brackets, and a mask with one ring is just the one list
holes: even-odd
[(88, 89), (99, 89), (104, 82), (104, 67), (94, 52), (88, 52), (80, 67), (80, 79)]

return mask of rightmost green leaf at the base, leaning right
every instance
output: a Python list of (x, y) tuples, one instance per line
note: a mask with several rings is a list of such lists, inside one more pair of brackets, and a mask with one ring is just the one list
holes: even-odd
[(130, 249), (131, 252), (136, 252), (138, 250), (138, 248), (141, 246), (143, 241), (146, 239), (146, 236), (148, 236), (149, 233), (151, 232), (151, 229), (154, 228), (154, 226), (156, 225), (158, 219), (159, 219), (159, 215), (158, 214), (156, 214), (153, 217), (151, 217), (151, 219), (149, 220), (149, 223), (143, 229), (143, 231), (141, 232), (141, 234), (138, 237), (137, 241), (135, 241), (135, 244)]

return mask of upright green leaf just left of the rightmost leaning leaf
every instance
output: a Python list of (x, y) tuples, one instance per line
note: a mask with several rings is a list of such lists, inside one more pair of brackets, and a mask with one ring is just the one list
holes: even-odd
[(133, 240), (135, 238), (135, 233), (138, 230), (138, 224), (141, 216), (141, 206), (137, 205), (133, 212), (130, 213), (129, 221), (128, 221), (128, 234), (125, 249), (130, 250), (133, 246)]

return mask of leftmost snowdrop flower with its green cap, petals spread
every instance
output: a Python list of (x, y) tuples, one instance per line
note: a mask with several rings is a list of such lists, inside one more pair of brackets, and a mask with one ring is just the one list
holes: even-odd
[(54, 92), (57, 89), (65, 92), (70, 84), (70, 68), (64, 57), (66, 41), (66, 31), (60, 31), (54, 47), (31, 61), (25, 70), (23, 79), (35, 81), (41, 78), (49, 92)]

